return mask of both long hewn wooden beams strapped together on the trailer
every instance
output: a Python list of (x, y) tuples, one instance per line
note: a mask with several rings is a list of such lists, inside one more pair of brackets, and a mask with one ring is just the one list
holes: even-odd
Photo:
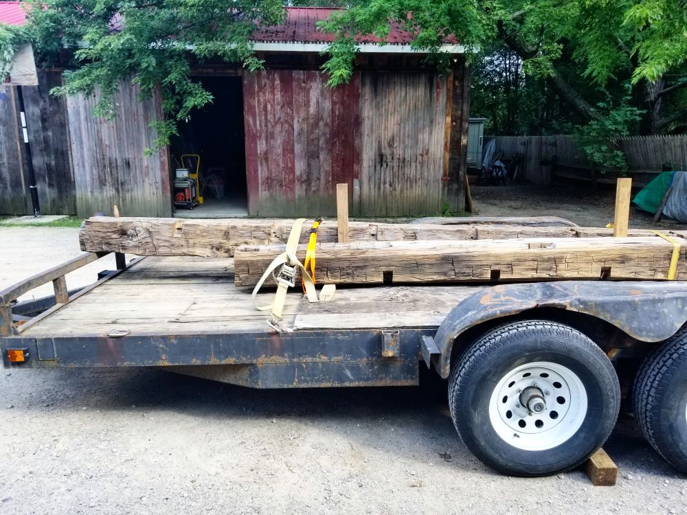
[[(284, 251), (293, 220), (107, 218), (86, 221), (85, 251), (137, 255), (234, 257), (237, 286), (254, 286)], [(301, 241), (308, 239), (306, 224)], [(526, 225), (390, 224), (349, 222), (350, 243), (336, 243), (337, 223), (317, 237), (319, 284), (453, 283), (558, 279), (666, 279), (674, 245), (655, 233)], [(676, 279), (687, 279), (687, 233), (670, 234), (681, 247)], [(301, 246), (302, 260), (305, 246)]]

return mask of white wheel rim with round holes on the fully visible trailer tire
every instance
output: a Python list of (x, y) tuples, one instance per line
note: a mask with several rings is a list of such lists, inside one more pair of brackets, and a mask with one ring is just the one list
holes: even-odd
[(587, 391), (580, 378), (569, 368), (548, 361), (509, 371), (489, 401), (494, 431), (523, 450), (547, 450), (563, 444), (586, 416)]

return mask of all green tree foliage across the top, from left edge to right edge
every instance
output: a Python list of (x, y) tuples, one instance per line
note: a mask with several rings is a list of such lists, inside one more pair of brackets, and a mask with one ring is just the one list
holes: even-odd
[[(412, 32), (412, 46), (441, 69), (451, 64), (440, 52), (447, 36), (466, 46), (473, 107), (484, 108), (473, 113), (492, 117), (502, 133), (565, 123), (586, 126), (590, 135), (687, 130), (687, 0), (30, 1), (37, 3), (25, 31), (0, 29), (0, 59), (25, 38), (44, 62), (73, 52), (76, 69), (57, 93), (98, 88), (104, 116), (114, 113), (120, 80), (133, 77), (144, 95), (159, 85), (161, 141), (192, 109), (212, 101), (190, 76), (194, 62), (258, 69), (248, 41), (254, 27), (278, 23), (282, 5), (318, 3), (348, 8), (321, 23), (338, 36), (324, 66), (333, 87), (350, 80), (354, 36), (383, 38), (394, 23)], [(122, 30), (113, 30), (117, 20)]]

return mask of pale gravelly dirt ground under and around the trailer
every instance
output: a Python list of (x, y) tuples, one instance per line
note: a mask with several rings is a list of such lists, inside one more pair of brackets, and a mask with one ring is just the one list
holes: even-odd
[[(475, 188), (482, 215), (610, 221), (607, 199), (545, 196)], [(76, 233), (0, 229), (0, 288), (77, 255)], [(424, 371), (419, 387), (262, 391), (152, 368), (0, 369), (0, 514), (687, 512), (687, 477), (631, 416), (605, 445), (615, 487), (581, 470), (503, 477), (458, 439), (446, 390)]]

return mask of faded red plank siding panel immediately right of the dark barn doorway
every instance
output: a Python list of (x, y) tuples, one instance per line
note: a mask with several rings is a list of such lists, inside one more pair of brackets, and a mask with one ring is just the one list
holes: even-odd
[(358, 173), (359, 83), (330, 89), (314, 70), (243, 76), (249, 214), (336, 213), (335, 185)]

